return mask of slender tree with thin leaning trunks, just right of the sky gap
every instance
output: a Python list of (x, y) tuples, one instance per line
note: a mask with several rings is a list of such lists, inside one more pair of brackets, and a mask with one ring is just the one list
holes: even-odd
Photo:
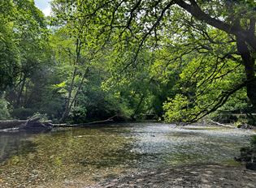
[(53, 25), (59, 28), (56, 34), (63, 35), (61, 40), (66, 42), (66, 45), (61, 47), (63, 48), (61, 51), (66, 53), (64, 56), (68, 57), (66, 61), (72, 68), (71, 80), (67, 84), (65, 109), (59, 120), (63, 122), (71, 112), (76, 97), (85, 84), (91, 63), (98, 58), (99, 45), (97, 42), (92, 42), (93, 32), (91, 31), (97, 28), (93, 28), (89, 19), (80, 16), (80, 1), (55, 0), (51, 5), (54, 12)]

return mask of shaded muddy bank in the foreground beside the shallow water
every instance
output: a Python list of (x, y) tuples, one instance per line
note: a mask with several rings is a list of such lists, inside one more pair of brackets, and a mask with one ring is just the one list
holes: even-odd
[(187, 165), (108, 179), (89, 188), (106, 187), (255, 187), (256, 172), (242, 166)]

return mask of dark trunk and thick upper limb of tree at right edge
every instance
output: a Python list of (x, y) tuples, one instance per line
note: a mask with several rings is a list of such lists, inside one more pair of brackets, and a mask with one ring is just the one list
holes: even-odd
[[(256, 79), (254, 71), (254, 53), (256, 52), (255, 2), (249, 1), (249, 4), (246, 4), (247, 1), (228, 1), (224, 3), (227, 11), (224, 11), (224, 14), (219, 14), (219, 16), (223, 15), (225, 21), (215, 19), (202, 11), (202, 7), (206, 6), (206, 3), (197, 3), (193, 0), (189, 2), (190, 4), (184, 1), (178, 1), (177, 5), (184, 8), (184, 10), (188, 11), (196, 19), (202, 20), (210, 26), (236, 37), (234, 42), (236, 43), (237, 54), (241, 57), (242, 64), (245, 66), (246, 75), (245, 84), (241, 84), (240, 87), (245, 86), (247, 88), (247, 96), (252, 105), (254, 105), (254, 108), (256, 108)], [(219, 1), (216, 6), (221, 6), (222, 4)], [(232, 54), (227, 54), (229, 56), (228, 58), (230, 58), (230, 55)], [(232, 92), (228, 93), (228, 95), (230, 94)]]

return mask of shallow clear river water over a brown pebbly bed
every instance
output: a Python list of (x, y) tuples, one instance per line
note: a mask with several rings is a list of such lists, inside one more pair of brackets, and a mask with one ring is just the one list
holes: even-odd
[(235, 165), (234, 156), (251, 135), (252, 130), (145, 122), (39, 135), (0, 133), (0, 186), (89, 185), (142, 169)]

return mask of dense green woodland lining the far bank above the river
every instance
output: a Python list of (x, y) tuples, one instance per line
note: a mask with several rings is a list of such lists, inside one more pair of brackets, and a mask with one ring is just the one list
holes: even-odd
[(0, 0), (0, 119), (197, 122), (228, 112), (253, 123), (254, 0), (54, 0), (51, 8), (46, 17), (33, 0)]

